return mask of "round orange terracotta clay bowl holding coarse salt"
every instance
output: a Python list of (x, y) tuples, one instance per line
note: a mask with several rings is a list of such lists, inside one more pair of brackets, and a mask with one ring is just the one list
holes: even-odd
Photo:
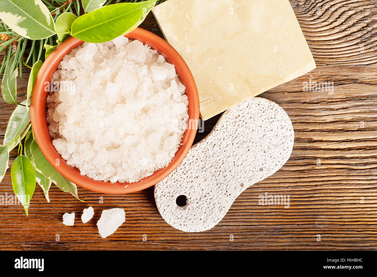
[[(184, 84), (186, 87), (185, 94), (187, 95), (189, 101), (189, 120), (192, 122), (198, 122), (198, 91), (189, 67), (187, 67), (186, 63), (178, 52), (175, 51), (175, 49), (165, 40), (141, 28), (136, 28), (134, 31), (127, 34), (126, 37), (129, 39), (137, 39), (144, 44), (149, 45), (152, 49), (157, 50), (159, 54), (163, 55), (168, 62), (175, 65), (176, 73), (181, 79), (182, 84)], [(146, 178), (135, 183), (111, 183), (110, 181), (97, 181), (85, 175), (81, 175), (80, 170), (69, 166), (57, 152), (54, 145), (52, 145), (52, 137), (50, 136), (48, 130), (46, 115), (46, 97), (49, 91), (45, 91), (44, 84), (45, 82), (51, 82), (51, 77), (57, 70), (63, 57), (83, 43), (84, 42), (82, 40), (70, 37), (61, 43), (43, 63), (34, 83), (30, 105), (31, 124), (35, 139), (37, 140), (43, 155), (46, 157), (49, 163), (69, 181), (85, 189), (100, 193), (131, 193), (153, 186), (168, 176), (186, 156), (194, 141), (196, 128), (198, 127), (197, 124), (191, 124), (191, 128), (187, 128), (185, 130), (182, 138), (182, 145), (179, 147), (174, 158), (167, 167), (160, 169), (154, 172), (152, 175), (147, 176)], [(60, 159), (59, 163), (56, 162), (57, 159)]]

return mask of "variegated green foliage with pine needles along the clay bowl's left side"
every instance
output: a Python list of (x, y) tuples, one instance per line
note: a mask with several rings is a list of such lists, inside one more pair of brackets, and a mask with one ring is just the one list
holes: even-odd
[[(0, 0), (1, 93), (17, 104), (0, 145), (0, 181), (9, 163), (9, 152), (18, 145), (11, 178), (15, 195), (28, 215), (28, 205), (38, 183), (49, 201), (52, 183), (78, 200), (77, 187), (61, 176), (44, 158), (31, 130), (30, 97), (39, 69), (48, 55), (67, 37), (100, 43), (135, 29), (156, 4), (164, 0)], [(123, 3), (121, 3), (123, 2)], [(22, 20), (16, 20), (22, 18)], [(17, 77), (31, 69), (26, 99), (17, 99)], [(22, 144), (22, 141), (24, 143)], [(25, 154), (25, 155), (24, 155)], [(81, 201), (81, 200), (80, 200)]]

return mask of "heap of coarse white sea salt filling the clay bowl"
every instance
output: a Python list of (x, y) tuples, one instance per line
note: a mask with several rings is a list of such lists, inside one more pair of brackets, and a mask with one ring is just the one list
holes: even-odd
[(156, 50), (126, 37), (85, 42), (53, 79), (60, 87), (47, 97), (52, 143), (81, 175), (132, 183), (174, 157), (188, 100), (174, 65)]

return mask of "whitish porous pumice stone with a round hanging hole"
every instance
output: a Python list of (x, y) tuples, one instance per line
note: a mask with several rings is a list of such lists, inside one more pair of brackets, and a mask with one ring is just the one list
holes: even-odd
[[(275, 173), (289, 159), (292, 123), (274, 102), (254, 97), (225, 111), (212, 132), (155, 186), (164, 220), (185, 232), (211, 229), (238, 195)], [(185, 206), (176, 198), (187, 197)]]

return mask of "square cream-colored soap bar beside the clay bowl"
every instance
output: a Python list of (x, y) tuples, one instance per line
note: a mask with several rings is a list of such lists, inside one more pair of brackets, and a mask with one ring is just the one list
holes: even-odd
[(288, 0), (167, 0), (152, 9), (206, 120), (316, 67)]

